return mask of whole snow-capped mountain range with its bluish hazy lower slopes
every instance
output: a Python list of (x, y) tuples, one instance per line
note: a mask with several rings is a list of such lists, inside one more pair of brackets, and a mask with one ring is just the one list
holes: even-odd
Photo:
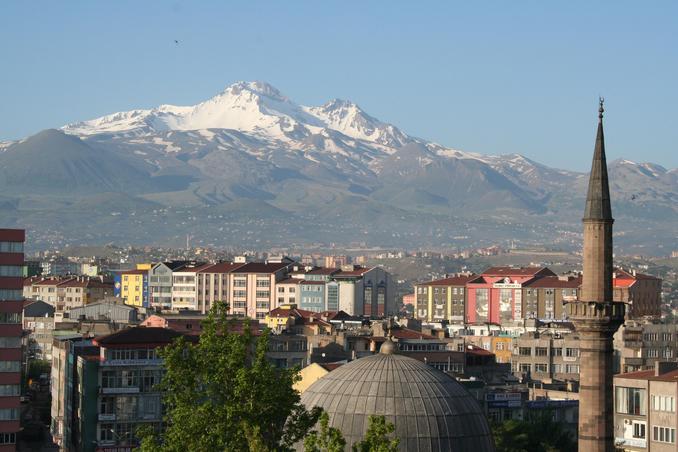
[[(628, 160), (609, 167), (616, 215), (678, 220), (676, 170)], [(453, 227), (452, 219), (482, 217), (490, 224), (495, 218), (490, 234), (508, 230), (511, 237), (537, 229), (507, 226), (507, 218), (574, 224), (586, 175), (519, 154), (447, 148), (410, 136), (350, 101), (303, 106), (266, 83), (238, 82), (193, 106), (113, 113), (0, 143), (0, 189), (9, 196), (0, 197), (0, 209), (19, 209), (12, 215), (22, 212), (16, 206), (28, 206), (31, 215), (40, 206), (64, 208), (48, 227), (65, 228), (75, 218), (68, 209), (76, 207), (124, 212), (115, 205), (120, 195), (128, 210), (141, 206), (136, 227), (153, 223), (150, 212), (165, 209), (179, 209), (180, 223), (186, 208), (223, 209), (236, 218), (254, 209), (260, 227), (285, 218), (317, 240), (328, 227), (346, 227), (352, 231), (347, 240), (354, 240), (359, 226), (362, 234), (380, 230), (435, 241)], [(46, 196), (54, 199), (46, 203)], [(46, 227), (44, 218), (39, 227)], [(196, 227), (221, 221), (210, 217)], [(72, 233), (82, 225), (69, 227)], [(474, 222), (462, 232), (478, 228)], [(669, 228), (668, 237), (675, 235)]]

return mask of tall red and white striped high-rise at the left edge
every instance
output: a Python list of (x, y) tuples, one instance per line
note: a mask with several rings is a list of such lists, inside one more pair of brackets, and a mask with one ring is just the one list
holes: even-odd
[(0, 229), (0, 451), (16, 450), (25, 232)]

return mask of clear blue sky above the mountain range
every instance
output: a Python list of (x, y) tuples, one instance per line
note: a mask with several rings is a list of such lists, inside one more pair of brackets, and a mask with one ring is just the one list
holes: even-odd
[(602, 94), (608, 159), (678, 166), (678, 2), (3, 1), (0, 21), (0, 140), (263, 80), (577, 170)]

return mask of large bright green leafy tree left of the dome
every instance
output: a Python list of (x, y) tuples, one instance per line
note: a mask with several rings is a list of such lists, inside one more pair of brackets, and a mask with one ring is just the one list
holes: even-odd
[(141, 450), (291, 450), (320, 409), (304, 408), (293, 389), (298, 369), (276, 369), (267, 347), (267, 332), (255, 338), (249, 321), (230, 319), (228, 306), (215, 303), (197, 343), (180, 337), (160, 352), (165, 430), (139, 432)]

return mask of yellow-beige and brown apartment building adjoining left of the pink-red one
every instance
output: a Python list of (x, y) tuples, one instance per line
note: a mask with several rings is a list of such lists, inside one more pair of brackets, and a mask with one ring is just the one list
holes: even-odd
[(466, 283), (475, 275), (457, 275), (415, 284), (415, 315), (428, 322), (463, 322), (466, 315)]

